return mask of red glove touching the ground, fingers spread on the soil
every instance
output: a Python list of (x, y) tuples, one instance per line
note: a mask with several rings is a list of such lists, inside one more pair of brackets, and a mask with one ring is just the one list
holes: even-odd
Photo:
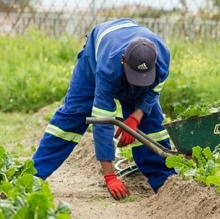
[(104, 178), (108, 190), (114, 199), (120, 200), (129, 195), (128, 189), (121, 180), (117, 179), (115, 173), (105, 174)]

